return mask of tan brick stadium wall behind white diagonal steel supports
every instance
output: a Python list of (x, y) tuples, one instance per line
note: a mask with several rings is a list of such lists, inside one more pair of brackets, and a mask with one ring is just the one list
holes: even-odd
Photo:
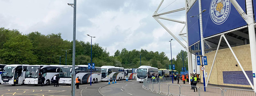
[[(234, 53), (236, 54), (236, 57), (240, 61), (242, 67), (246, 71), (246, 73), (248, 73), (248, 71), (252, 72), (250, 44), (232, 47), (232, 49), (233, 49)], [(210, 70), (212, 67), (212, 62), (214, 59), (215, 52), (216, 51), (209, 52), (209, 53), (205, 54), (205, 56), (207, 56), (207, 63), (208, 63), (208, 65), (205, 66), (205, 72), (207, 72), (208, 76), (210, 74)], [(232, 73), (233, 76), (234, 76), (234, 74), (237, 74), (237, 77), (241, 76), (240, 72), (242, 72), (242, 70), (239, 67), (239, 65), (236, 66), (236, 64), (238, 65), (235, 57), (233, 56), (233, 54), (229, 48), (220, 49), (218, 51), (216, 60), (214, 62), (214, 67), (212, 69), (212, 74), (211, 74), (211, 77), (209, 80), (209, 84), (238, 86), (238, 87), (251, 87), (250, 85), (247, 84), (247, 82), (248, 82), (247, 80), (246, 80), (247, 82), (244, 81), (244, 82), (246, 82), (247, 85), (232, 82), (232, 81), (226, 81), (227, 78), (225, 77), (225, 75), (230, 75), (230, 74), (228, 74), (228, 72), (230, 73), (232, 71), (236, 71), (235, 73), (234, 72)], [(203, 83), (203, 71), (200, 70), (200, 73), (201, 73), (200, 74), (201, 75), (201, 83)], [(223, 78), (223, 75), (224, 75), (224, 78)], [(207, 79), (208, 79), (208, 77), (205, 78), (205, 82), (207, 81)], [(232, 78), (230, 78), (230, 79), (232, 79)], [(223, 82), (223, 80), (225, 82)], [(227, 83), (227, 82), (229, 82), (229, 83)]]

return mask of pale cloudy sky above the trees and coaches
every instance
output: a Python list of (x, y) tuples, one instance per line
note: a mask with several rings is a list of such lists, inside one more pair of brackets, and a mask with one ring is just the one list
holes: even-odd
[[(76, 39), (90, 42), (91, 38), (86, 34), (96, 36), (92, 43), (107, 48), (110, 55), (114, 55), (116, 50), (126, 48), (165, 52), (170, 58), (168, 41), (173, 37), (152, 17), (160, 1), (77, 0)], [(73, 8), (67, 3), (73, 2), (73, 0), (2, 0), (0, 27), (18, 29), (23, 34), (33, 31), (42, 34), (61, 33), (64, 40), (72, 41)], [(159, 9), (161, 12), (158, 12), (182, 8), (184, 4), (184, 0), (165, 0)], [(185, 11), (163, 17), (185, 21)], [(184, 24), (160, 21), (185, 44), (185, 41), (178, 36)], [(172, 40), (172, 57), (175, 58), (180, 50), (185, 49), (176, 40)]]

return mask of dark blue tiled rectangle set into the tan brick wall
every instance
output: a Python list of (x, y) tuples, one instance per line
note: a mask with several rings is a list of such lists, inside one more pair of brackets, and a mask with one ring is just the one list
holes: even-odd
[[(222, 73), (224, 84), (250, 85), (243, 71), (223, 71)], [(245, 71), (245, 73), (253, 84), (252, 71)]]

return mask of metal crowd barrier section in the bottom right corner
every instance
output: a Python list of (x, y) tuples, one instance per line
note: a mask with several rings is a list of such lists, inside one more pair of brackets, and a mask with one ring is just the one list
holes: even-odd
[(253, 90), (223, 88), (222, 96), (256, 96)]

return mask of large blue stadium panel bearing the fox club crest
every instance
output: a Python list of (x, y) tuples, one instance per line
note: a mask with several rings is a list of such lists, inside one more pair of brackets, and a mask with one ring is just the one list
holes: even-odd
[[(236, 0), (245, 11), (245, 0)], [(223, 6), (223, 7), (222, 7)], [(217, 10), (217, 8), (223, 10)], [(202, 0), (203, 36), (208, 37), (246, 25), (229, 0)]]

